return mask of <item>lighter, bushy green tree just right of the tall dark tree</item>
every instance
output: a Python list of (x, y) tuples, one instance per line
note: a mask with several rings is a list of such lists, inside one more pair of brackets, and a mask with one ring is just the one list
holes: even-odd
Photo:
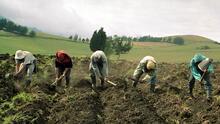
[(133, 44), (131, 41), (123, 41), (121, 38), (117, 38), (113, 42), (113, 48), (115, 54), (118, 55), (118, 59), (121, 54), (125, 54), (131, 50)]

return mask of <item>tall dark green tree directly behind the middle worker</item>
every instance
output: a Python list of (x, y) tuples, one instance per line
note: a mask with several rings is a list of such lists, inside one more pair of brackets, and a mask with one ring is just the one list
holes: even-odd
[(101, 28), (98, 32), (95, 31), (92, 35), (91, 41), (90, 41), (90, 49), (91, 51), (96, 51), (96, 50), (105, 50), (106, 46), (106, 33), (104, 32), (104, 29)]

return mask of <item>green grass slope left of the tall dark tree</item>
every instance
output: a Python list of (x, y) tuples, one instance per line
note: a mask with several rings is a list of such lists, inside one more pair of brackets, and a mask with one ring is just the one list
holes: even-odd
[[(1, 33), (1, 32), (0, 32)], [(58, 50), (66, 50), (71, 56), (89, 56), (91, 54), (88, 44), (72, 42), (62, 37), (50, 35), (30, 38), (23, 36), (0, 36), (0, 53), (14, 54), (16, 50), (22, 49), (35, 54), (54, 55)], [(64, 39), (64, 40), (57, 40)]]

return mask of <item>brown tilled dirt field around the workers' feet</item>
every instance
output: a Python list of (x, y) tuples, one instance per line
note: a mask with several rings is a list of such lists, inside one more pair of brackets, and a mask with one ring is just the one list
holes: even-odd
[[(126, 77), (133, 74), (138, 63), (110, 61), (109, 78), (114, 87), (98, 87), (92, 91), (88, 76), (89, 58), (73, 58), (72, 88), (57, 92), (50, 87), (54, 81), (52, 56), (37, 55), (39, 72), (31, 85), (24, 81), (6, 80), (14, 71), (12, 56), (0, 55), (0, 123), (35, 124), (219, 124), (220, 123), (220, 63), (214, 63), (213, 100), (196, 82), (195, 99), (188, 95), (188, 64), (159, 63), (155, 93), (149, 92), (149, 82), (131, 87)], [(128, 89), (125, 90), (125, 84)], [(99, 83), (98, 83), (99, 85)]]

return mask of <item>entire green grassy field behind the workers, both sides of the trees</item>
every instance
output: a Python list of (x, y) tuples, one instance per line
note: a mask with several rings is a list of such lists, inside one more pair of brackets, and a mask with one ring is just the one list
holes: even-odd
[[(207, 57), (220, 61), (220, 45), (211, 40), (199, 36), (182, 36), (185, 45), (178, 46), (170, 43), (134, 42), (133, 49), (128, 54), (122, 54), (121, 59), (139, 61), (147, 55), (154, 56), (158, 62), (189, 62), (195, 53), (201, 53)], [(71, 56), (90, 56), (91, 51), (86, 43), (72, 42), (63, 37), (40, 33), (36, 38), (22, 37), (0, 31), (0, 53), (14, 54), (22, 49), (35, 54), (53, 55), (57, 50), (66, 50)], [(200, 50), (198, 47), (209, 46), (208, 50)], [(116, 59), (117, 56), (111, 56)]]

